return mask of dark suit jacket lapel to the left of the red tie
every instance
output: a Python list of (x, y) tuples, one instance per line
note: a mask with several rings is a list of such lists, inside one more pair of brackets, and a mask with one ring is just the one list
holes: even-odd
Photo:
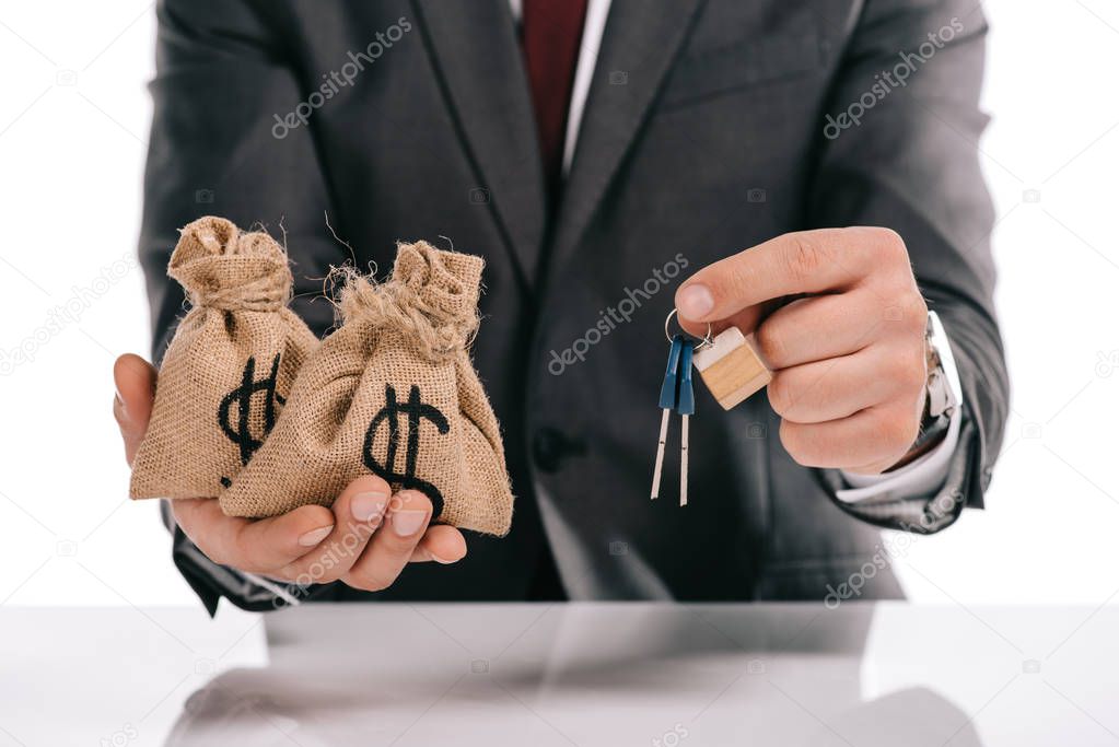
[(508, 0), (413, 2), (489, 207), (532, 287), (544, 236), (544, 177)]

